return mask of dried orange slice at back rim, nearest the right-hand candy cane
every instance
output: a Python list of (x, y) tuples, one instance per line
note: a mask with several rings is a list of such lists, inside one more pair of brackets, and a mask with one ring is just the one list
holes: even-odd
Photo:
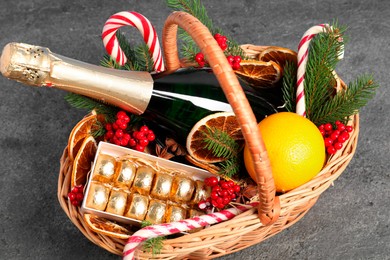
[(297, 65), (297, 53), (288, 48), (270, 46), (260, 53), (259, 60), (276, 62), (283, 69), (287, 61)]

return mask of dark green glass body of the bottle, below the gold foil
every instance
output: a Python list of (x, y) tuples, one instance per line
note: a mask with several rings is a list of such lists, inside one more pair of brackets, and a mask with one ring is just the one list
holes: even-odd
[[(277, 112), (273, 95), (268, 94), (266, 99), (243, 87), (258, 121)], [(155, 77), (145, 115), (175, 132), (183, 141), (199, 120), (221, 111), (232, 111), (232, 107), (215, 75), (206, 69), (183, 69), (162, 78)]]

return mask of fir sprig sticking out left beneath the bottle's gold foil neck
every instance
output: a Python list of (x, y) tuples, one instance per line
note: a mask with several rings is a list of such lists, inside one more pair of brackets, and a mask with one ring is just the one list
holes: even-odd
[(74, 93), (68, 93), (65, 96), (65, 100), (71, 105), (72, 107), (78, 108), (78, 109), (84, 109), (89, 112), (92, 110), (95, 110), (98, 114), (103, 114), (106, 117), (107, 122), (113, 122), (115, 121), (115, 115), (118, 111), (116, 107), (113, 107), (111, 105), (103, 104), (100, 101), (94, 100), (92, 98), (74, 94)]

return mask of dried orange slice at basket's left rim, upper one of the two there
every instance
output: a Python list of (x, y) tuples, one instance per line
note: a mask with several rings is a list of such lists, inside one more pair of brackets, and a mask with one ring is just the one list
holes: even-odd
[(68, 155), (71, 160), (74, 160), (84, 138), (91, 135), (91, 130), (96, 120), (97, 115), (95, 112), (92, 112), (91, 115), (84, 117), (72, 129), (68, 139)]

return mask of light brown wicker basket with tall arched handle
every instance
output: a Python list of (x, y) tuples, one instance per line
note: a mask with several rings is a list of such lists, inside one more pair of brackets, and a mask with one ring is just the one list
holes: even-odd
[[(209, 30), (188, 13), (174, 12), (166, 20), (163, 30), (163, 49), (167, 71), (181, 66), (177, 48), (177, 29), (183, 28), (191, 35), (201, 51), (208, 57), (210, 67), (216, 75), (225, 95), (233, 107), (243, 136), (256, 164), (258, 198), (252, 208), (230, 220), (211, 225), (205, 229), (164, 240), (157, 255), (137, 249), (140, 259), (208, 259), (237, 252), (279, 233), (300, 220), (316, 203), (319, 196), (340, 176), (351, 161), (358, 141), (359, 116), (354, 115), (349, 124), (355, 129), (344, 147), (327, 158), (321, 172), (311, 181), (286, 193), (276, 195), (267, 151), (257, 128), (254, 114), (246, 100), (240, 83), (228, 64), (226, 57)], [(242, 45), (252, 57), (258, 55), (263, 46)], [(339, 80), (339, 86), (345, 84)], [(74, 225), (93, 243), (122, 255), (126, 240), (113, 238), (92, 231), (85, 223), (79, 207), (68, 200), (71, 190), (73, 161), (65, 148), (61, 158), (58, 178), (58, 199), (61, 207)]]

